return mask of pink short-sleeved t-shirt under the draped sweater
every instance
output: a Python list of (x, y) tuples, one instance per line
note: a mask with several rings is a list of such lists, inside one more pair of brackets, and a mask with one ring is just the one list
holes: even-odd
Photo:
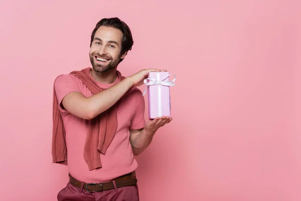
[[(103, 84), (96, 80), (95, 82), (102, 88), (109, 88), (118, 83), (119, 80), (117, 78), (111, 84)], [(56, 79), (54, 86), (66, 131), (68, 170), (70, 174), (86, 183), (99, 183), (107, 182), (134, 171), (138, 165), (129, 142), (129, 130), (137, 130), (144, 127), (145, 103), (142, 92), (138, 88), (133, 87), (116, 103), (116, 133), (106, 153), (99, 154), (102, 167), (90, 171), (83, 155), (88, 132), (88, 120), (70, 114), (62, 108), (61, 102), (65, 95), (73, 91), (81, 92), (86, 97), (92, 96), (92, 93), (78, 77), (70, 74), (60, 75)]]

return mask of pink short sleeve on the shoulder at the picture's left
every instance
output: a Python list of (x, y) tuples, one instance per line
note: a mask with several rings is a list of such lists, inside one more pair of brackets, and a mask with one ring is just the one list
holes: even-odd
[(62, 114), (67, 114), (68, 111), (62, 107), (63, 98), (71, 92), (81, 92), (78, 80), (74, 75), (60, 75), (54, 82), (54, 90), (57, 96), (59, 109)]

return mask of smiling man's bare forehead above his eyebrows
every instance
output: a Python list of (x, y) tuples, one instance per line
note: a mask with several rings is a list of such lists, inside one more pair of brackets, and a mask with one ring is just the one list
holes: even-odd
[(100, 38), (102, 41), (116, 41), (121, 43), (123, 34), (119, 29), (100, 26), (95, 32), (94, 38), (96, 37)]

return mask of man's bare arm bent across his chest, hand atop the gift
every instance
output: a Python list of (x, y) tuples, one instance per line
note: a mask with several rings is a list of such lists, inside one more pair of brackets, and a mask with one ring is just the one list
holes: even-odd
[(133, 74), (114, 86), (103, 90), (91, 97), (85, 97), (81, 92), (68, 93), (62, 99), (63, 107), (71, 114), (83, 118), (93, 119), (113, 106), (133, 86), (143, 84), (148, 72), (165, 71), (158, 69), (144, 69)]

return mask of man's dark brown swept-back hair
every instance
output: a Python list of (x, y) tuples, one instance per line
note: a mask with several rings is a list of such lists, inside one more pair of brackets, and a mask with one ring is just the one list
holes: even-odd
[[(122, 55), (125, 52), (131, 50), (132, 45), (134, 43), (132, 35), (131, 35), (131, 31), (130, 31), (129, 27), (123, 21), (121, 21), (118, 18), (104, 18), (96, 24), (96, 26), (95, 26), (95, 28), (92, 32), (92, 35), (91, 35), (90, 47), (91, 47), (92, 42), (94, 40), (95, 32), (98, 30), (98, 28), (100, 26), (113, 27), (113, 28), (119, 29), (122, 32), (123, 38), (122, 38), (120, 55)], [(119, 63), (122, 60), (123, 59), (120, 59)]]

